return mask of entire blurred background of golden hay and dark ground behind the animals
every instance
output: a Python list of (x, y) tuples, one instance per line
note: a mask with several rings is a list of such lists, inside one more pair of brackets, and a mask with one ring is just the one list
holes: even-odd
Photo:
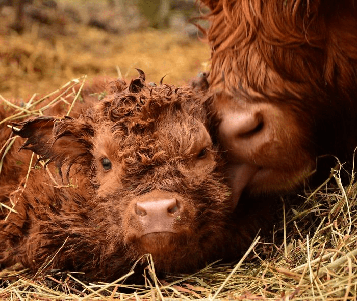
[[(0, 94), (29, 99), (87, 74), (181, 85), (208, 69), (195, 0), (0, 0)], [(120, 70), (120, 71), (119, 71)]]

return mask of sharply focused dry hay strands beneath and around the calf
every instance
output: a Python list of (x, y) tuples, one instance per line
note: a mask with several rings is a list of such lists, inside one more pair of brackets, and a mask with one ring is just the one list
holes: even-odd
[[(66, 94), (55, 102), (63, 101), (70, 110), (72, 104), (64, 96), (84, 80), (69, 82), (61, 90)], [(40, 115), (43, 108), (34, 109), (34, 104), (44, 99), (18, 107), (18, 115), (11, 118)], [(347, 183), (342, 178), (348, 178)], [(146, 269), (134, 268), (112, 283), (81, 281), (81, 273), (56, 270), (33, 275), (16, 265), (0, 272), (0, 299), (356, 300), (356, 195), (354, 170), (348, 175), (340, 166), (317, 190), (298, 196), (298, 206), (284, 205), (282, 199), (281, 224), (270, 238), (257, 237), (238, 263), (216, 262), (192, 275), (158, 278), (147, 255)], [(132, 273), (144, 274), (145, 284), (127, 284), (124, 280)]]

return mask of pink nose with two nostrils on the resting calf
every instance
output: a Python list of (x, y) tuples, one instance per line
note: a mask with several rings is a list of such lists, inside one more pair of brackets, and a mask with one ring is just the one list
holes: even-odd
[(137, 201), (135, 213), (142, 224), (142, 235), (175, 232), (174, 222), (180, 220), (182, 207), (175, 199)]

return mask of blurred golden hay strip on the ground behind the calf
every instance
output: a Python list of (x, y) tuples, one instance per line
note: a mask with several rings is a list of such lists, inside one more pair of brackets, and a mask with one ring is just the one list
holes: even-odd
[[(66, 2), (76, 4), (58, 1), (59, 5)], [(87, 2), (76, 4), (82, 18), (89, 18), (86, 6)], [(38, 91), (47, 93), (83, 74), (117, 77), (116, 66), (126, 78), (136, 76), (136, 67), (151, 81), (158, 82), (167, 74), (170, 83), (182, 85), (205, 71), (210, 59), (205, 43), (179, 29), (139, 26), (135, 31), (113, 33), (52, 12), (52, 24), (33, 22), (19, 35), (8, 27), (14, 19), (10, 9), (9, 15), (2, 15), (1, 9), (0, 94), (7, 98), (28, 99)]]

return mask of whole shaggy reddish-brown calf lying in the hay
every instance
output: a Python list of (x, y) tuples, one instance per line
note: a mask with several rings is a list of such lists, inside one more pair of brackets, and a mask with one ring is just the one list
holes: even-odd
[[(159, 271), (192, 271), (236, 256), (264, 225), (249, 220), (267, 217), (265, 208), (233, 212), (207, 131), (209, 100), (198, 89), (146, 84), (141, 73), (129, 85), (112, 82), (103, 100), (83, 99), (87, 108), (74, 118), (16, 124), (23, 150), (11, 148), (1, 173), (1, 203), (14, 205), (0, 212), (3, 266), (49, 262), (112, 279), (151, 253)], [(37, 162), (17, 189), (28, 150), (48, 160), (47, 169)]]

